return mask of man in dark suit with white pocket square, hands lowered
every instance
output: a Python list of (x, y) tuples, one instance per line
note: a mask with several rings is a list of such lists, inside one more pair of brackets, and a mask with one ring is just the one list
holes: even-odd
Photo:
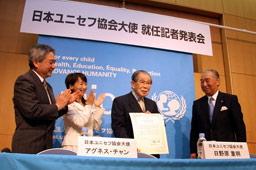
[(219, 85), (216, 70), (209, 69), (202, 73), (201, 88), (206, 95), (193, 103), (190, 132), (192, 159), (196, 158), (199, 133), (205, 133), (206, 140), (246, 142), (245, 124), (237, 96), (220, 92)]

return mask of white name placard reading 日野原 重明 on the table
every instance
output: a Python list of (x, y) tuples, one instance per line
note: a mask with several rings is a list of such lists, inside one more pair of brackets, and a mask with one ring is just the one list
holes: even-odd
[(250, 158), (246, 142), (203, 142), (203, 159), (244, 159)]

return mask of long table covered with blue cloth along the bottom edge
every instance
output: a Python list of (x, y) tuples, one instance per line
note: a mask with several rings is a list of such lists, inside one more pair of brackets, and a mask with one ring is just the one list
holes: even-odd
[(256, 159), (136, 159), (0, 153), (0, 167), (1, 170), (251, 170), (256, 169)]

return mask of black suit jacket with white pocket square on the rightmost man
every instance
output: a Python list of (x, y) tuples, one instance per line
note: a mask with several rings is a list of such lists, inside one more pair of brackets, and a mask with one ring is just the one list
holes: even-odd
[(219, 92), (210, 123), (208, 97), (193, 103), (190, 132), (190, 152), (196, 153), (199, 133), (205, 133), (206, 140), (246, 142), (246, 130), (237, 96)]

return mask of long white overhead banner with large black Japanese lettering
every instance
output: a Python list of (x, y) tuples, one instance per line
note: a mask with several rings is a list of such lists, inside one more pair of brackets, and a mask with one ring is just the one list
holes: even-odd
[(26, 0), (21, 32), (212, 55), (208, 25), (74, 1)]

